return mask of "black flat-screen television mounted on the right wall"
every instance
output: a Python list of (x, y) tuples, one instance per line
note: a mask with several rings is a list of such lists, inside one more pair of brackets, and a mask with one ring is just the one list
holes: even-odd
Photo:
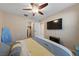
[(47, 22), (48, 30), (62, 29), (62, 18)]

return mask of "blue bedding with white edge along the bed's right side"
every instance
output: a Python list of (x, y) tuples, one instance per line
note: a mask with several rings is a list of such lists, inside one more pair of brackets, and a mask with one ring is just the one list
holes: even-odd
[(40, 36), (35, 36), (35, 41), (48, 49), (55, 56), (73, 56), (73, 53), (63, 45), (50, 41)]

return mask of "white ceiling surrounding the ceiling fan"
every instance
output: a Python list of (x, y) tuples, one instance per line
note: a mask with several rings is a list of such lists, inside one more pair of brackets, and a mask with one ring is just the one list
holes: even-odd
[(23, 14), (28, 14), (29, 18), (35, 19), (35, 20), (42, 20), (43, 17), (51, 16), (65, 8), (68, 8), (73, 3), (48, 3), (48, 6), (45, 7), (42, 12), (44, 13), (44, 16), (41, 16), (39, 14), (36, 14), (35, 16), (32, 16), (32, 12), (22, 10), (23, 8), (27, 8), (29, 3), (0, 3), (0, 10), (6, 11), (8, 13), (16, 14), (23, 16)]

